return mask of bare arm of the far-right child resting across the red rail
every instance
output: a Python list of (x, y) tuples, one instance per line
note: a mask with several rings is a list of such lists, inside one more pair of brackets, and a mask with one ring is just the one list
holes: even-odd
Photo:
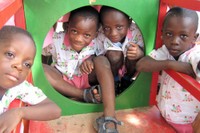
[(136, 69), (139, 72), (159, 72), (166, 69), (172, 69), (195, 77), (192, 66), (189, 63), (174, 60), (155, 60), (149, 56), (140, 59), (136, 64)]

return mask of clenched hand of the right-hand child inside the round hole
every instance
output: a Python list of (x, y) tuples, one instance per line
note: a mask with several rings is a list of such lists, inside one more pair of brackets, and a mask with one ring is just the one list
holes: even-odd
[(130, 46), (127, 49), (126, 56), (129, 60), (137, 60), (144, 56), (144, 52), (141, 50), (141, 48), (134, 44), (133, 42), (129, 42)]

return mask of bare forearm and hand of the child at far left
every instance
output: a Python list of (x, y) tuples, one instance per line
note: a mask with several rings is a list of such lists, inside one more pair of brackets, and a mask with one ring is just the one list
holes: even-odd
[(33, 106), (13, 108), (0, 115), (0, 133), (11, 132), (21, 119), (45, 121), (60, 115), (61, 109), (48, 98)]

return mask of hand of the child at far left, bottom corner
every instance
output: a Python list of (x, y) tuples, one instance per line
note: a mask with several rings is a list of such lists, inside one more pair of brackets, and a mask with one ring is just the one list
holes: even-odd
[(0, 115), (0, 133), (10, 133), (16, 128), (22, 119), (19, 110), (11, 109)]

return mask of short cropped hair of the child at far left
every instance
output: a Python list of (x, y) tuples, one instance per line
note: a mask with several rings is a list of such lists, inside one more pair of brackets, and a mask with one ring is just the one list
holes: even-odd
[(23, 34), (29, 37), (35, 45), (31, 34), (28, 31), (16, 26), (3, 26), (3, 28), (0, 30), (0, 44), (11, 42), (16, 34)]

